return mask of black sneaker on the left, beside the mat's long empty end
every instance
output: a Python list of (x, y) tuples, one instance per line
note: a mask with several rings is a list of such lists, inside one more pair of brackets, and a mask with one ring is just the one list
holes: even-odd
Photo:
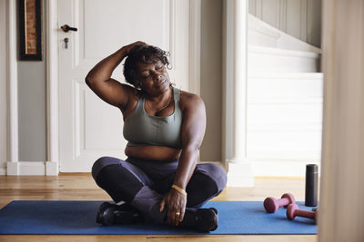
[(144, 218), (128, 204), (116, 205), (103, 202), (96, 214), (96, 223), (106, 226), (114, 224), (136, 224), (143, 222)]

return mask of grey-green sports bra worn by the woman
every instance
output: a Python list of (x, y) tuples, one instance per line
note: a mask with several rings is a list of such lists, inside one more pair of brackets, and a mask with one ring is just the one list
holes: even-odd
[(161, 145), (180, 149), (182, 111), (179, 107), (179, 94), (179, 89), (173, 88), (175, 111), (167, 117), (147, 114), (144, 110), (146, 98), (142, 95), (137, 101), (136, 108), (124, 122), (123, 134), (128, 141), (127, 146)]

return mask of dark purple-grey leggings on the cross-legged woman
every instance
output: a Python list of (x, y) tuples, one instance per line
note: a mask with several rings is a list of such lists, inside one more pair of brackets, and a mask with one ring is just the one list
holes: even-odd
[[(161, 222), (166, 209), (159, 212), (159, 203), (175, 179), (178, 161), (157, 162), (128, 158), (102, 157), (96, 160), (92, 175), (115, 202), (125, 201), (147, 218)], [(225, 188), (227, 174), (217, 164), (197, 167), (187, 184), (187, 208), (199, 208)]]

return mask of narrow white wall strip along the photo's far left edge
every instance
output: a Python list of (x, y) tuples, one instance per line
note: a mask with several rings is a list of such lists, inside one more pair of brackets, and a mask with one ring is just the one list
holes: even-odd
[(5, 175), (7, 159), (6, 115), (6, 0), (0, 0), (0, 175)]

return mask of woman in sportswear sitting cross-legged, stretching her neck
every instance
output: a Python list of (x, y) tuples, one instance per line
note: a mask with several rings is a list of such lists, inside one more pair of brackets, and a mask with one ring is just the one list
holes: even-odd
[[(122, 84), (111, 78), (126, 58)], [(102, 157), (92, 174), (117, 204), (103, 203), (96, 221), (109, 225), (141, 219), (210, 231), (217, 209), (199, 208), (217, 196), (227, 181), (215, 164), (197, 164), (206, 128), (202, 100), (174, 88), (167, 53), (143, 42), (106, 57), (87, 74), (86, 83), (123, 113), (126, 160)]]

